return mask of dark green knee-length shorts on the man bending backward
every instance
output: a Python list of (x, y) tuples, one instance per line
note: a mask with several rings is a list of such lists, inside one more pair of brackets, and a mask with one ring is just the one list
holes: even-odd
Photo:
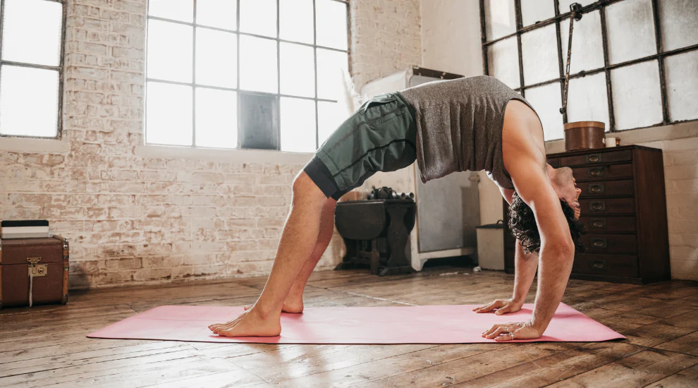
[(339, 199), (376, 171), (403, 169), (417, 158), (415, 111), (398, 92), (369, 99), (315, 151), (304, 171)]

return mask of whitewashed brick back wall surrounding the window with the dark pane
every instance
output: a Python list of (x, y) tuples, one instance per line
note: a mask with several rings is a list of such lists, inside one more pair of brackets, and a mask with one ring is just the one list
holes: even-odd
[[(140, 157), (146, 0), (68, 0), (66, 153), (0, 152), (0, 219), (71, 241), (71, 287), (264, 274), (302, 164)], [(353, 1), (360, 83), (420, 63), (418, 0)], [(333, 237), (319, 262), (331, 268)]]

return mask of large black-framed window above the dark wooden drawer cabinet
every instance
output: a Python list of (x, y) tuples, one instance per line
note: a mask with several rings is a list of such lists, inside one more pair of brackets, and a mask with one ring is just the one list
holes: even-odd
[[(560, 113), (570, 4), (568, 107)], [(563, 123), (603, 121), (606, 131), (698, 119), (698, 1), (480, 0), (484, 71), (537, 110), (546, 140)]]

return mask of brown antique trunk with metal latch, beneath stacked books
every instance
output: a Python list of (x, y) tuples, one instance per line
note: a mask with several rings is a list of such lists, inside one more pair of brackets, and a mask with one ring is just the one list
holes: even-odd
[(67, 240), (0, 240), (0, 308), (67, 302)]

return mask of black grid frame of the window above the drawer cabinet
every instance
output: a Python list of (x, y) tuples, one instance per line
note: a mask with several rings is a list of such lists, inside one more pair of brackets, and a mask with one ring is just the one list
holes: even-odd
[[(551, 1), (551, 0), (546, 0), (546, 1)], [(682, 47), (680, 49), (673, 49), (670, 51), (662, 51), (661, 47), (661, 23), (659, 20), (659, 0), (651, 0), (652, 4), (652, 18), (654, 20), (654, 40), (656, 43), (656, 54), (652, 54), (649, 56), (643, 56), (642, 58), (637, 58), (637, 59), (632, 59), (630, 61), (624, 61), (621, 63), (616, 63), (616, 64), (609, 64), (608, 63), (608, 36), (607, 36), (607, 31), (606, 31), (606, 12), (605, 8), (606, 6), (609, 6), (614, 3), (619, 3), (620, 1), (630, 1), (630, 0), (599, 0), (595, 1), (592, 4), (589, 4), (587, 6), (584, 6), (581, 8), (581, 13), (582, 15), (584, 13), (589, 13), (592, 11), (599, 10), (600, 17), (601, 17), (601, 40), (603, 42), (603, 50), (604, 50), (604, 66), (601, 68), (595, 68), (589, 71), (580, 71), (578, 73), (570, 73), (570, 80), (575, 79), (575, 78), (582, 78), (587, 75), (594, 75), (597, 73), (606, 73), (606, 95), (607, 95), (607, 100), (608, 100), (608, 132), (609, 133), (618, 133), (618, 132), (625, 132), (625, 131), (632, 131), (635, 129), (640, 129), (640, 128), (653, 128), (653, 127), (658, 127), (658, 126), (666, 126), (669, 124), (674, 124), (674, 123), (687, 123), (691, 121), (698, 121), (698, 119), (691, 119), (691, 120), (675, 120), (671, 121), (669, 119), (669, 113), (668, 113), (668, 104), (667, 104), (667, 98), (666, 98), (666, 75), (664, 72), (664, 59), (667, 56), (673, 56), (676, 54), (683, 54), (686, 52), (690, 51), (695, 51), (698, 50), (698, 44), (693, 44), (691, 46), (687, 47)], [(671, 0), (664, 0), (664, 1), (671, 1)], [(487, 49), (489, 46), (492, 44), (495, 44), (496, 42), (500, 42), (502, 40), (506, 40), (510, 37), (516, 37), (517, 40), (517, 45), (518, 45), (518, 66), (519, 66), (519, 80), (520, 80), (520, 87), (514, 89), (517, 92), (520, 92), (522, 97), (526, 97), (526, 90), (531, 89), (533, 87), (539, 87), (543, 85), (549, 85), (551, 83), (560, 83), (560, 95), (561, 95), (561, 102), (563, 101), (564, 98), (564, 83), (565, 83), (565, 63), (567, 61), (567, 47), (562, 47), (562, 41), (561, 41), (561, 28), (560, 28), (560, 23), (561, 21), (565, 19), (570, 18), (570, 13), (571, 12), (565, 12), (565, 13), (560, 13), (560, 4), (559, 0), (553, 0), (554, 6), (555, 6), (555, 16), (552, 18), (538, 21), (537, 23), (534, 23), (532, 25), (529, 25), (527, 27), (523, 27), (523, 22), (522, 22), (522, 16), (521, 16), (521, 0), (514, 0), (514, 11), (515, 11), (515, 23), (516, 23), (516, 31), (505, 35), (503, 37), (498, 37), (497, 39), (490, 40), (488, 41), (486, 39), (486, 18), (485, 18), (485, 0), (480, 0), (480, 35), (481, 35), (481, 42), (482, 42), (482, 68), (483, 72), (485, 75), (489, 75), (489, 63), (488, 63), (488, 58), (487, 58)], [(537, 30), (538, 28), (544, 28), (547, 25), (555, 24), (556, 28), (556, 35), (557, 35), (557, 50), (558, 50), (558, 68), (559, 68), (559, 77), (558, 78), (553, 78), (551, 80), (546, 80), (541, 83), (535, 83), (531, 85), (526, 85), (524, 82), (524, 74), (523, 74), (523, 54), (521, 51), (521, 35), (524, 34), (525, 32), (529, 32), (532, 30)], [(582, 22), (578, 23), (584, 23), (583, 19)], [(563, 32), (567, 33), (567, 32)], [(574, 51), (573, 51), (573, 60), (574, 60)], [(616, 128), (616, 116), (613, 112), (613, 90), (611, 88), (611, 70), (616, 69), (616, 68), (623, 68), (626, 66), (631, 66), (635, 65), (637, 63), (642, 63), (642, 62), (649, 62), (649, 61), (654, 61), (656, 60), (658, 65), (659, 65), (659, 87), (660, 87), (660, 92), (661, 92), (661, 111), (662, 111), (662, 121), (661, 123), (656, 123), (651, 126), (642, 126), (638, 128), (628, 128), (628, 129), (623, 129), (623, 130), (618, 130)], [(567, 118), (567, 112), (565, 111), (563, 114), (563, 123), (568, 123), (568, 118)], [(555, 141), (555, 140), (551, 140)]]

